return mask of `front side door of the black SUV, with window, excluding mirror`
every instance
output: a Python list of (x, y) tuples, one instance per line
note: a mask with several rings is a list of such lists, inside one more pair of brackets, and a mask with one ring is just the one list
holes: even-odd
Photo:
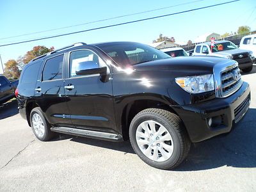
[(80, 129), (113, 132), (115, 111), (111, 78), (102, 82), (99, 74), (76, 75), (77, 63), (86, 61), (94, 61), (99, 67), (108, 67), (95, 52), (88, 49), (70, 52), (68, 77), (65, 79), (70, 118)]

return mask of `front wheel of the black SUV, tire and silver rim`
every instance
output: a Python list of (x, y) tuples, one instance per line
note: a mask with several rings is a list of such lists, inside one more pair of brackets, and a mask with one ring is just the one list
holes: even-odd
[(131, 122), (129, 137), (136, 154), (150, 166), (170, 170), (188, 155), (191, 142), (179, 116), (145, 109)]

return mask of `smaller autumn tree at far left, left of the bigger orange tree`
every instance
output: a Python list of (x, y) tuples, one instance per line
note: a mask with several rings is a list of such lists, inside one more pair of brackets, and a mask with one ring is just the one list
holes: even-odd
[(8, 60), (5, 63), (5, 68), (4, 68), (4, 75), (8, 79), (18, 79), (20, 77), (20, 70), (18, 67), (18, 63), (15, 60)]

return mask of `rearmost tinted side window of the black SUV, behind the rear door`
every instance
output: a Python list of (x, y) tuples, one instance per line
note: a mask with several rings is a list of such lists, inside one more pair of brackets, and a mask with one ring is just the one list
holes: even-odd
[(20, 83), (22, 84), (35, 83), (41, 63), (42, 61), (38, 61), (24, 68), (24, 70), (22, 71), (22, 79), (20, 80)]

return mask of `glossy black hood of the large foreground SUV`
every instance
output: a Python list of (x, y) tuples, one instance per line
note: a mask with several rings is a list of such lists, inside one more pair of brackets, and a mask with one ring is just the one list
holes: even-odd
[(168, 58), (164, 60), (149, 61), (134, 65), (134, 69), (137, 71), (166, 71), (172, 72), (189, 72), (194, 74), (202, 74), (202, 72), (212, 72), (212, 69), (218, 63), (230, 63), (232, 60), (214, 56), (189, 56), (189, 57), (177, 57)]

